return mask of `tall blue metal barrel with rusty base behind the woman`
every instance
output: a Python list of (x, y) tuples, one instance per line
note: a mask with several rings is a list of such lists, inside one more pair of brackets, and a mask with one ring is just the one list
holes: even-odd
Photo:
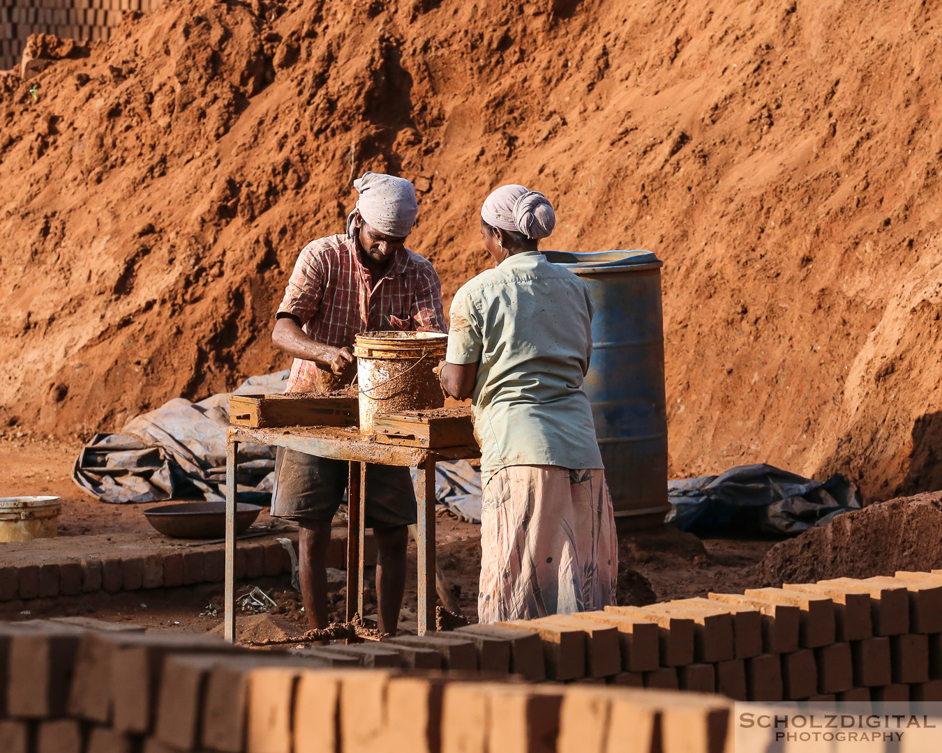
[(595, 301), (592, 403), (619, 528), (659, 525), (667, 501), (667, 406), (660, 267), (650, 251), (568, 253), (547, 260), (585, 280)]

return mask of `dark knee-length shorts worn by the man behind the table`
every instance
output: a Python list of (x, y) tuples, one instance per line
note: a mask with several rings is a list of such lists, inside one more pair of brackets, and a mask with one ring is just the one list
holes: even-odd
[[(290, 521), (331, 521), (347, 489), (349, 462), (279, 447), (271, 515)], [(415, 522), (415, 489), (408, 468), (366, 463), (366, 527)]]

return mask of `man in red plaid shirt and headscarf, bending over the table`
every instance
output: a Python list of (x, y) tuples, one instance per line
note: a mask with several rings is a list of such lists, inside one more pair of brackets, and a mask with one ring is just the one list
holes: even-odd
[[(295, 358), (285, 392), (324, 393), (349, 384), (359, 332), (445, 331), (438, 275), (428, 260), (405, 248), (417, 212), (413, 184), (367, 172), (353, 186), (360, 196), (346, 234), (301, 249), (278, 307), (271, 340)], [(329, 624), (325, 562), (347, 468), (343, 460), (277, 451), (271, 514), (299, 524), (301, 598), (313, 628)], [(365, 518), (377, 542), (379, 629), (396, 633), (407, 526), (415, 522), (408, 468), (367, 464)]]

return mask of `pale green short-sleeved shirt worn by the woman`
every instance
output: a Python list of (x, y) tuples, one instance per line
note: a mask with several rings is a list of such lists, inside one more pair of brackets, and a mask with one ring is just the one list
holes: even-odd
[(586, 284), (539, 251), (508, 257), (455, 294), (446, 360), (479, 362), (482, 486), (512, 465), (602, 468), (582, 390), (593, 313)]

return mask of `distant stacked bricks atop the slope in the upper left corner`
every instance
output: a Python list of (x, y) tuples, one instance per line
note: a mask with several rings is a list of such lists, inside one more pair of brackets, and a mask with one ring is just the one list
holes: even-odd
[(14, 68), (31, 34), (77, 41), (107, 40), (122, 13), (158, 8), (164, 0), (0, 0), (0, 71)]

